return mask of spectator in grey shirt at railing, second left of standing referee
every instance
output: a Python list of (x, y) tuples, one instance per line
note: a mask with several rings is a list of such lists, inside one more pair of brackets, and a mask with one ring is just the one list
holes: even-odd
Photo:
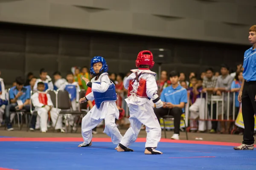
[[(227, 65), (221, 65), (221, 76), (218, 77), (215, 89), (213, 92), (216, 92), (218, 96), (222, 96), (222, 92), (224, 92), (224, 113), (222, 113), (222, 102), (219, 102), (218, 104), (218, 113), (219, 114), (227, 114), (229, 115), (229, 120), (232, 119), (232, 116), (230, 115), (231, 112), (227, 113), (227, 105), (230, 105), (230, 103), (227, 103), (227, 91), (230, 91), (231, 84), (233, 82), (233, 77), (229, 74), (229, 67)], [(233, 95), (230, 94), (230, 101), (232, 101)], [(231, 107), (230, 107), (231, 108)], [(231, 110), (231, 109), (230, 109)], [(227, 116), (224, 116), (227, 117)], [(218, 119), (221, 119), (221, 115), (218, 115)], [(227, 122), (227, 128), (225, 122), (221, 121), (221, 133), (229, 133), (231, 122)]]

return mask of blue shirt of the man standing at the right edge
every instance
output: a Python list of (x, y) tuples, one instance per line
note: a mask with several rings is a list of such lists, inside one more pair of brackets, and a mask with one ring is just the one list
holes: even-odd
[(247, 81), (256, 81), (256, 48), (249, 48), (244, 53), (243, 77)]

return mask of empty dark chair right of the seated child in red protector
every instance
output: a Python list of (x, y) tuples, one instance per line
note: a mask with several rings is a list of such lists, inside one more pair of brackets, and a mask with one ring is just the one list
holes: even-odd
[[(82, 107), (84, 107), (84, 105)], [(81, 111), (80, 107), (79, 107), (80, 111), (73, 111), (69, 93), (65, 90), (60, 90), (60, 89), (58, 89), (58, 91), (56, 92), (56, 108), (60, 109), (61, 111), (58, 114), (57, 120), (55, 122), (55, 126), (61, 114), (62, 115), (68, 115), (68, 114), (80, 115), (81, 117), (83, 113), (86, 113), (84, 111)], [(53, 131), (55, 131), (55, 126)], [(65, 131), (67, 133), (67, 126), (65, 126)]]

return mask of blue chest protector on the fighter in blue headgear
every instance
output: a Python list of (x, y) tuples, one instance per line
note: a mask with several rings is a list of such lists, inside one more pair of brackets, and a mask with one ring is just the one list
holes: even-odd
[[(95, 82), (95, 83), (100, 84), (100, 82)], [(93, 96), (94, 96), (96, 108), (100, 108), (100, 105), (102, 104), (102, 102), (116, 101), (116, 87), (112, 83), (111, 85), (109, 85), (107, 91), (105, 91), (104, 93), (93, 92)]]

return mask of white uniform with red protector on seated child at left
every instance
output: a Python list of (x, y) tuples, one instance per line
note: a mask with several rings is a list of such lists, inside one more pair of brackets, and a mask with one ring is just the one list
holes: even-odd
[[(32, 103), (35, 110), (38, 112), (38, 117), (40, 117), (40, 127), (41, 131), (47, 131), (47, 121), (48, 121), (48, 110), (47, 107), (43, 106), (53, 106), (51, 96), (46, 92), (35, 92), (31, 96)], [(59, 109), (52, 108), (50, 110), (50, 115), (52, 119), (52, 126), (54, 127), (57, 120)], [(61, 116), (58, 119), (55, 129), (62, 129), (62, 119)]]

